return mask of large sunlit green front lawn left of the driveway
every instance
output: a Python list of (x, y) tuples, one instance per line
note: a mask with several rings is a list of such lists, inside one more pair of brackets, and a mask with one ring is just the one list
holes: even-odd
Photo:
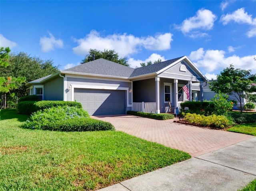
[(190, 158), (123, 132), (23, 129), (0, 110), (0, 190), (95, 190)]

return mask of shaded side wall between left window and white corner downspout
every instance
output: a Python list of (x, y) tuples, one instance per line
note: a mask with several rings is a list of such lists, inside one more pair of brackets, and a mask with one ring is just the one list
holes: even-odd
[(44, 100), (64, 100), (63, 78), (57, 77), (44, 84)]

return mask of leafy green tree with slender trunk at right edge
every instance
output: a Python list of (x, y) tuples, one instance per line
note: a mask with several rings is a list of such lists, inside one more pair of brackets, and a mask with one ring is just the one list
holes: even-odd
[(224, 93), (230, 97), (234, 97), (240, 102), (240, 110), (242, 106), (242, 98), (251, 102), (256, 102), (256, 87), (252, 83), (256, 80), (256, 74), (251, 74), (251, 70), (235, 69), (234, 65), (224, 69), (217, 75), (217, 80), (212, 81), (210, 89), (215, 93)]

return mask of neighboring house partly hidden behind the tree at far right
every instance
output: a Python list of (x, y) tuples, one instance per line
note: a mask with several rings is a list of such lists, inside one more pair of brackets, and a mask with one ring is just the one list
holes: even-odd
[[(216, 93), (214, 93), (214, 91), (210, 90), (210, 84), (211, 81), (207, 81), (203, 83), (203, 92), (204, 92), (204, 100), (210, 100), (211, 98), (214, 98), (214, 96), (216, 95)], [(195, 85), (197, 85), (199, 87), (199, 83), (196, 83)], [(255, 83), (252, 83), (252, 85), (256, 86)], [(253, 94), (256, 94), (256, 92), (254, 92)], [(236, 101), (236, 104), (234, 104), (233, 109), (234, 110), (240, 110), (240, 102), (239, 100), (234, 97), (234, 96), (229, 96), (230, 100), (234, 100)], [(245, 98), (241, 98), (242, 99), (242, 107), (246, 104), (246, 102), (248, 102), (248, 100), (246, 100)]]

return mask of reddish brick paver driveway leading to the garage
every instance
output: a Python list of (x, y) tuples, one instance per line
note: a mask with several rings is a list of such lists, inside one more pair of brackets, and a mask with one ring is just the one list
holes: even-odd
[(110, 122), (118, 131), (183, 150), (193, 157), (254, 137), (174, 123), (176, 119), (154, 120), (131, 115), (92, 116), (92, 118)]

